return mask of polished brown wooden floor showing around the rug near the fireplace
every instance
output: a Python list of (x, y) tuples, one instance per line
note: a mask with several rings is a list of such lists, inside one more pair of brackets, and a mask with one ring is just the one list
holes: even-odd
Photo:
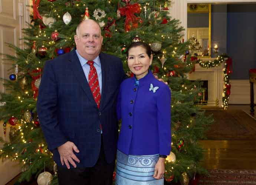
[[(250, 113), (249, 105), (229, 105), (229, 109)], [(203, 140), (200, 144), (206, 150), (201, 162), (206, 169), (256, 169), (256, 140)]]

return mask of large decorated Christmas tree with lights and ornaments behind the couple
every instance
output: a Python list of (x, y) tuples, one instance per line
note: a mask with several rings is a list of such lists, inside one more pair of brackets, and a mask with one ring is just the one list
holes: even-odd
[(13, 61), (14, 73), (4, 80), (7, 93), (0, 99), (0, 119), (4, 127), (12, 125), (11, 141), (4, 143), (0, 156), (22, 163), (20, 181), (31, 181), (40, 174), (37, 180), (45, 184), (52, 179), (44, 172), (49, 171), (55, 172), (52, 184), (57, 183), (36, 100), (45, 62), (75, 48), (76, 27), (83, 19), (99, 23), (104, 36), (102, 51), (120, 57), (128, 76), (132, 74), (127, 66), (127, 46), (136, 41), (150, 44), (154, 56), (151, 70), (168, 83), (172, 94), (172, 152), (166, 160), (165, 182), (188, 185), (196, 173), (204, 172), (198, 140), (212, 119), (197, 105), (203, 90), (199, 82), (187, 79), (194, 67), (189, 42), (184, 42), (179, 21), (168, 16), (168, 6), (167, 0), (33, 0), (32, 21), (23, 30), (27, 47), (21, 50), (10, 45), (16, 56), (5, 58)]

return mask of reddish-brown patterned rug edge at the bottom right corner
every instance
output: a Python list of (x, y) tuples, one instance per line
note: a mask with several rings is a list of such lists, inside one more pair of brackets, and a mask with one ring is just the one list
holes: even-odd
[(256, 185), (256, 170), (211, 169), (198, 185)]

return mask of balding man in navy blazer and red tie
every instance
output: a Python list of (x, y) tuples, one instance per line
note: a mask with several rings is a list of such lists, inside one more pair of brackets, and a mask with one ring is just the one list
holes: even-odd
[(60, 185), (111, 185), (118, 122), (116, 96), (125, 78), (119, 58), (101, 53), (93, 20), (76, 29), (76, 50), (47, 61), (37, 112)]

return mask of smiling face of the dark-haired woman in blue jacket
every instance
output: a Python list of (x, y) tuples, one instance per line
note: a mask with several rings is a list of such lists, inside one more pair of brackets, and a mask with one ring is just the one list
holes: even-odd
[(132, 47), (128, 51), (128, 67), (138, 80), (148, 74), (152, 58), (153, 55), (148, 57), (146, 49), (142, 46)]

